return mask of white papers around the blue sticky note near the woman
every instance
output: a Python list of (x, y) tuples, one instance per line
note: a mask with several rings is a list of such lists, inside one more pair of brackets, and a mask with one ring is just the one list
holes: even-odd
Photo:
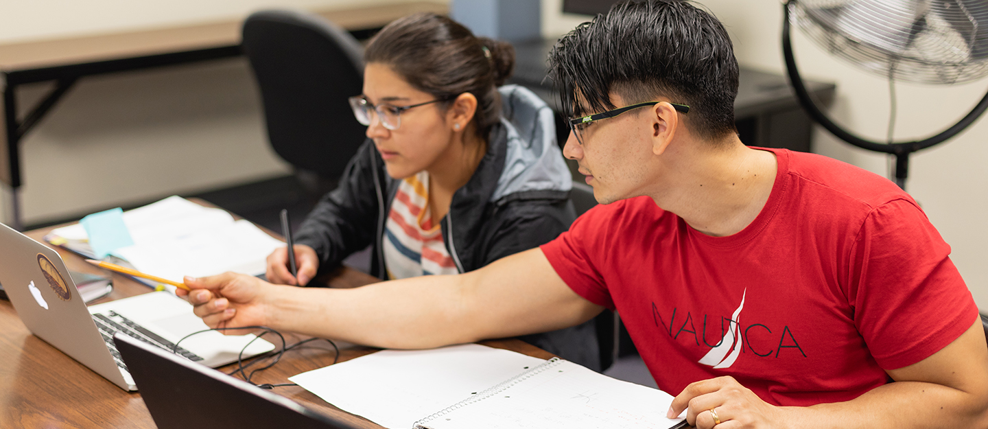
[[(137, 271), (182, 282), (184, 276), (205, 277), (226, 271), (258, 275), (266, 259), (285, 243), (248, 220), (234, 220), (181, 197), (124, 213), (133, 245), (114, 250), (111, 258)], [(85, 228), (73, 224), (51, 231), (45, 239), (93, 256)]]

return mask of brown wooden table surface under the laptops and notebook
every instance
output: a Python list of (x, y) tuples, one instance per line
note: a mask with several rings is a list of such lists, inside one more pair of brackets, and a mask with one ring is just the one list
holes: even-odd
[[(41, 241), (51, 228), (28, 232)], [(42, 241), (43, 242), (43, 241)], [(70, 270), (101, 273), (78, 255), (56, 248)], [(330, 279), (332, 287), (356, 287), (376, 282), (364, 273), (344, 268)], [(105, 300), (117, 300), (150, 292), (146, 286), (114, 275), (114, 292)], [(296, 335), (286, 335), (289, 343)], [(527, 355), (550, 358), (551, 354), (519, 340), (485, 341), (492, 347)], [(340, 361), (374, 352), (376, 349), (340, 345)], [(333, 363), (335, 352), (324, 341), (291, 350), (277, 365), (258, 373), (255, 383), (289, 383), (288, 377)], [(0, 427), (66, 428), (154, 428), (140, 393), (129, 393), (111, 384), (88, 368), (32, 335), (18, 318), (9, 301), (0, 301)], [(220, 370), (233, 371), (233, 366)], [(380, 428), (361, 417), (340, 411), (318, 396), (298, 386), (276, 387), (273, 391), (327, 415), (344, 418), (360, 427)]]

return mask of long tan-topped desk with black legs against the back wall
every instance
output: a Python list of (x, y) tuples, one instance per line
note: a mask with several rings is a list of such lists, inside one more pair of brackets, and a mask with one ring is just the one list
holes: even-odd
[[(353, 9), (314, 11), (366, 39), (387, 23), (416, 12), (448, 11), (430, 1), (378, 4)], [(242, 20), (196, 23), (38, 42), (0, 43), (0, 181), (13, 191), (11, 226), (21, 229), (18, 197), (22, 185), (20, 142), (75, 82), (85, 76), (159, 67), (241, 54)], [(55, 82), (54, 88), (18, 118), (17, 87)]]

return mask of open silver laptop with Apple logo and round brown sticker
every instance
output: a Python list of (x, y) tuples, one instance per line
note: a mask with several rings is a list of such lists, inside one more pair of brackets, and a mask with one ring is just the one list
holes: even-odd
[(0, 284), (32, 333), (126, 390), (137, 388), (114, 345), (117, 332), (208, 367), (235, 362), (241, 351), (247, 358), (275, 348), (250, 334), (209, 331), (182, 340), (208, 327), (189, 302), (167, 292), (87, 307), (58, 252), (2, 223)]

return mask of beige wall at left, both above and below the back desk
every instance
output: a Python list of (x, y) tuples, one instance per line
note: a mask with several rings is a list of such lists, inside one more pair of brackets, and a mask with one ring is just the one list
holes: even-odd
[[(0, 43), (384, 1), (395, 0), (0, 0)], [(21, 88), (23, 117), (48, 87)], [(243, 58), (83, 78), (22, 144), (28, 224), (290, 171), (268, 145)], [(9, 191), (0, 188), (8, 219)]]

